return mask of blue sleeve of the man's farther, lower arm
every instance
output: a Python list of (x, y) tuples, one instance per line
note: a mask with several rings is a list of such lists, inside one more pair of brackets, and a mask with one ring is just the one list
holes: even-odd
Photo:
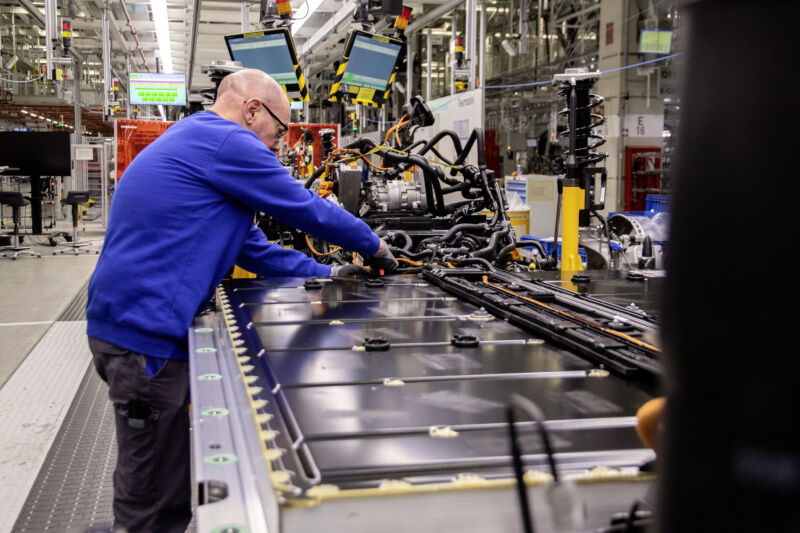
[(255, 224), (250, 227), (236, 264), (266, 277), (328, 276), (331, 273), (330, 266), (321, 265), (297, 250), (269, 242)]

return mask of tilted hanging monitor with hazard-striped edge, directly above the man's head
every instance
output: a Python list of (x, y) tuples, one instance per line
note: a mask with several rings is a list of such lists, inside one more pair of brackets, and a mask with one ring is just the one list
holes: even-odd
[(280, 83), (290, 102), (308, 101), (308, 87), (289, 28), (226, 35), (225, 44), (233, 61), (266, 72)]

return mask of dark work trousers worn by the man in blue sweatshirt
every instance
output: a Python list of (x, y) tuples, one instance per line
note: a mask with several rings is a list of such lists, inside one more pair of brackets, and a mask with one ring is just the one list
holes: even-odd
[(148, 378), (144, 355), (92, 337), (89, 348), (116, 414), (115, 527), (183, 533), (192, 517), (188, 361), (167, 360)]

